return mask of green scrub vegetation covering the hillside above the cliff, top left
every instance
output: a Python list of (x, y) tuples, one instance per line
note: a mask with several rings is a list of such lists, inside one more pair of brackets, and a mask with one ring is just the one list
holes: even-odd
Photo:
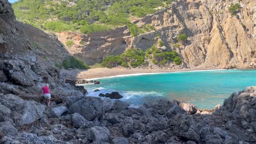
[[(168, 4), (170, 2), (172, 0)], [(131, 23), (129, 17), (153, 14), (165, 4), (165, 0), (22, 0), (15, 2), (13, 8), (19, 20), (54, 32), (79, 30), (89, 34), (127, 25), (135, 37), (143, 31)], [(152, 26), (147, 27), (154, 30)]]

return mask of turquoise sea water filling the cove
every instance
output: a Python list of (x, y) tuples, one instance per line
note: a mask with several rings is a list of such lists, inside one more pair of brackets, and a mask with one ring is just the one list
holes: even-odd
[[(100, 79), (101, 85), (84, 85), (90, 96), (117, 91), (121, 100), (139, 106), (156, 99), (177, 99), (212, 109), (232, 92), (256, 86), (256, 70), (189, 71)], [(94, 89), (100, 92), (93, 92)]]

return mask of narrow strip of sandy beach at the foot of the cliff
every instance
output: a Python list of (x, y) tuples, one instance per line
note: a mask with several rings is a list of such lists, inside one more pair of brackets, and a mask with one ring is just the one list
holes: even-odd
[(68, 79), (98, 79), (102, 77), (109, 76), (119, 76), (119, 75), (127, 75), (127, 74), (142, 74), (142, 73), (168, 73), (175, 71), (192, 71), (192, 70), (213, 70), (214, 68), (208, 69), (199, 69), (199, 68), (191, 68), (191, 69), (126, 69), (126, 68), (94, 68), (88, 70), (61, 70), (61, 75), (65, 75)]

